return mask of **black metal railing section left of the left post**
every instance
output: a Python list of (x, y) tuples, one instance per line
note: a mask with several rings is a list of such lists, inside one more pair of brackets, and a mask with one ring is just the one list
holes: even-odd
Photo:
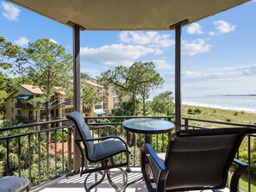
[(0, 176), (27, 177), (32, 185), (71, 170), (72, 126), (49, 121), (0, 128)]

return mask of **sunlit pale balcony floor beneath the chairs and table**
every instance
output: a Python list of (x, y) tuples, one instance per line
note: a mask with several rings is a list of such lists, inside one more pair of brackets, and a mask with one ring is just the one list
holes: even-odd
[[(114, 170), (115, 171), (115, 170)], [(50, 183), (46, 183), (41, 185), (38, 188), (31, 189), (31, 192), (84, 192), (84, 177), (80, 177), (79, 175), (75, 175), (72, 177), (59, 177), (58, 179), (53, 180)], [(134, 179), (138, 179), (142, 177), (140, 168), (132, 167), (132, 172), (128, 173), (128, 182), (134, 181)], [(94, 183), (94, 174), (89, 178), (88, 183)], [(122, 185), (122, 176), (113, 177), (113, 182), (117, 183), (117, 185)], [(92, 189), (92, 191), (95, 191)], [(103, 183), (98, 185), (98, 192), (115, 192), (116, 190), (112, 188), (109, 184), (108, 180), (105, 178)], [(126, 189), (126, 192), (147, 192), (146, 184), (143, 180), (140, 180), (137, 183), (129, 185)], [(207, 192), (211, 190), (206, 190)], [(204, 192), (206, 192), (204, 191)], [(228, 192), (228, 189), (221, 190), (222, 192)]]

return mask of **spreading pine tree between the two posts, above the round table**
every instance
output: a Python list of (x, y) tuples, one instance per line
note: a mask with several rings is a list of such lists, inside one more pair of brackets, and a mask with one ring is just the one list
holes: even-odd
[(121, 65), (113, 71), (103, 72), (99, 82), (103, 85), (113, 85), (115, 90), (130, 96), (133, 103), (132, 114), (135, 115), (136, 96), (141, 96), (145, 104), (149, 91), (161, 86), (164, 80), (155, 71), (153, 62), (135, 62), (130, 67)]

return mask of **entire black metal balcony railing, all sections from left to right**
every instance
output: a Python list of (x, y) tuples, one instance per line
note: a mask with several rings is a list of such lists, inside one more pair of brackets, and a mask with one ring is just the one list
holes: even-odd
[[(91, 131), (91, 133), (93, 137), (109, 134), (122, 136), (128, 142), (128, 146), (130, 146), (131, 166), (140, 166), (140, 147), (144, 143), (145, 135), (128, 133), (122, 127), (122, 121), (131, 118), (140, 118), (140, 116), (85, 117), (84, 121), (89, 127), (102, 125), (116, 127), (117, 131), (97, 128)], [(147, 116), (145, 118), (174, 120), (173, 116)], [(28, 177), (31, 183), (37, 185), (71, 172), (73, 167), (72, 145), (74, 144), (72, 136), (73, 127), (69, 123), (71, 121), (59, 120), (0, 128), (0, 147), (2, 147), (2, 150), (0, 150), (0, 171), (1, 162), (3, 164), (2, 170), (4, 170), (2, 174)], [(256, 128), (256, 125), (183, 118), (183, 128), (204, 127)], [(152, 144), (156, 152), (165, 152), (168, 146), (168, 137), (168, 134), (154, 134), (152, 136)], [(252, 164), (254, 164), (254, 158), (256, 157), (256, 147), (253, 145), (256, 146), (256, 136), (249, 135), (245, 139), (243, 147), (246, 146), (247, 148), (247, 163), (250, 164), (251, 169), (245, 175), (247, 186), (240, 186), (240, 189), (248, 192), (255, 189)], [(6, 148), (5, 151), (3, 147)], [(3, 154), (3, 152), (5, 153)], [(237, 158), (240, 158), (240, 155), (238, 154)]]

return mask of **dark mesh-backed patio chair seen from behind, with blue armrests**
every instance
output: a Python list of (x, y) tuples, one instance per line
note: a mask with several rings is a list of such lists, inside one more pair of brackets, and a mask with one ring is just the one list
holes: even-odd
[[(235, 159), (247, 127), (181, 130), (170, 138), (167, 152), (157, 155), (149, 144), (141, 152), (141, 170), (149, 192), (224, 189), (232, 163), (238, 167), (230, 182), (237, 192), (247, 164)], [(153, 189), (152, 183), (156, 188)]]

